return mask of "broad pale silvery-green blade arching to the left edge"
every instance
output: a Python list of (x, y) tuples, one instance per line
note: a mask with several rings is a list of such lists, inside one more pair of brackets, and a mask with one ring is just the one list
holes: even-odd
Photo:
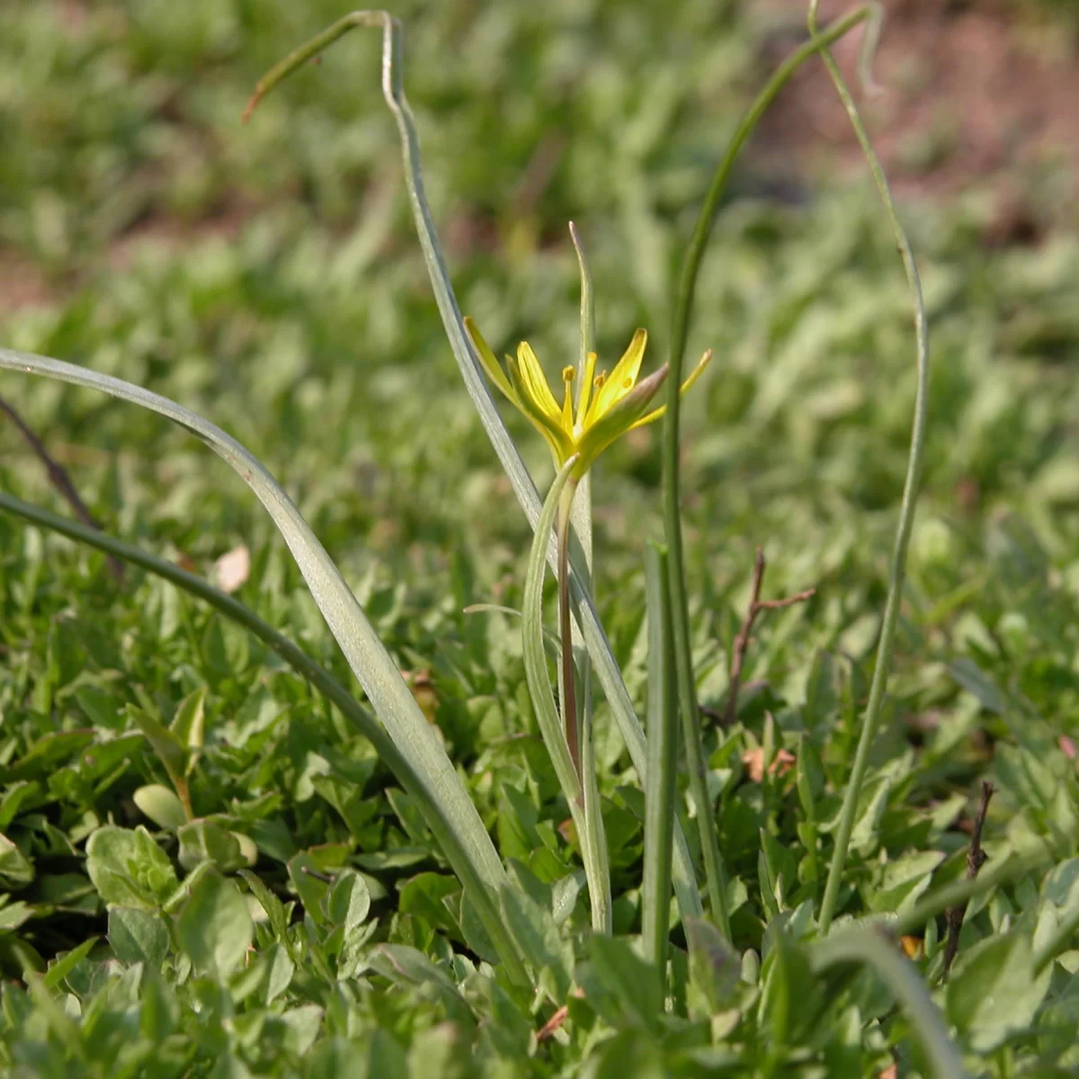
[(0, 349), (0, 369), (70, 382), (140, 405), (197, 435), (232, 466), (273, 518), (375, 714), (438, 807), (445, 828), (454, 833), (475, 877), (497, 893), (508, 877), (456, 770), (340, 571), (265, 466), (208, 420), (122, 379), (9, 349)]

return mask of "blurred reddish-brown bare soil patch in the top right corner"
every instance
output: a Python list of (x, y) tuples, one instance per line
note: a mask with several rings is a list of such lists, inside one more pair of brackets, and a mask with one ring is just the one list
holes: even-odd
[[(801, 27), (802, 0), (778, 11)], [(822, 25), (847, 10), (825, 0)], [(1032, 202), (1058, 210), (1079, 191), (1079, 41), (1060, 23), (1034, 21), (992, 0), (886, 0), (873, 73), (879, 96), (858, 87), (861, 29), (835, 56), (856, 87), (859, 107), (897, 190), (906, 196), (950, 197), (985, 186), (1001, 227), (1022, 233), (1036, 221)], [(769, 44), (770, 64), (793, 36)], [(774, 54), (774, 55), (773, 55)], [(796, 170), (827, 161), (862, 167), (858, 144), (820, 63), (806, 65), (765, 118), (759, 152), (786, 156)], [(1032, 197), (1032, 190), (1038, 195)], [(1042, 208), (1044, 211), (1044, 207)], [(1014, 237), (1022, 240), (1022, 235)]]

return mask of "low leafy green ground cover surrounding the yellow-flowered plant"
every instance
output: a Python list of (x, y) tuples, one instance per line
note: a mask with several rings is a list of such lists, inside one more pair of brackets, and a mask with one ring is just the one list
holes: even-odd
[[(571, 218), (588, 245), (601, 356), (610, 363), (643, 325), (651, 361), (666, 357), (679, 256), (767, 76), (754, 59), (765, 27), (750, 14), (723, 21), (704, 0), (668, 9), (395, 9), (462, 306), (496, 351), (527, 337), (552, 375), (576, 359)], [(569, 812), (528, 699), (519, 626), (462, 613), (521, 605), (531, 532), (442, 336), (377, 43), (342, 43), (240, 124), (263, 70), (340, 13), (264, 0), (6, 6), (0, 244), (16, 272), (2, 281), (28, 281), (47, 302), (0, 309), (0, 341), (180, 400), (267, 463), (399, 666), (428, 673), (424, 704), (531, 897), (521, 916), (561, 882), (569, 931), (542, 942), (546, 996), (477, 972), (447, 863), (340, 713), (172, 586), (135, 569), (119, 582), (101, 555), (5, 515), (2, 1067), (545, 1076), (588, 1057), (597, 1075), (630, 1074), (631, 1062), (638, 1075), (842, 1076), (876, 1074), (894, 1052), (900, 1074), (929, 1074), (879, 984), (817, 969), (800, 943), (872, 675), (914, 394), (910, 303), (868, 178), (784, 203), (742, 163), (702, 268), (689, 353), (710, 346), (716, 360), (685, 401), (682, 472), (700, 702), (722, 709), (757, 544), (766, 596), (817, 596), (760, 620), (737, 722), (706, 730), (733, 944), (755, 956), (721, 951), (687, 987), (678, 927), (671, 986), (686, 1017), (659, 1022), (646, 970), (620, 946), (640, 932), (643, 802), (617, 732), (601, 706), (616, 938), (595, 945), (584, 892), (573, 902), (579, 855), (560, 832)], [(1079, 864), (1076, 764), (1062, 741), (1079, 741), (1079, 242), (1062, 229), (1037, 248), (991, 249), (984, 206), (974, 192), (901, 207), (933, 331), (930, 429), (838, 915), (909, 911), (960, 878), (956, 825), (991, 779), (988, 866), (1041, 839), (1055, 865), (974, 900), (951, 984), (934, 996), (971, 1074), (1065, 1074), (1079, 1063), (1076, 940), (1040, 971), (1030, 957), (1060, 910), (1075, 909)], [(205, 448), (85, 391), (5, 374), (0, 393), (109, 532), (202, 574), (245, 544), (238, 597), (352, 684), (275, 531)], [(548, 480), (540, 439), (504, 414)], [(604, 455), (592, 491), (596, 592), (643, 715), (643, 546), (661, 516), (658, 433), (638, 434)], [(0, 438), (0, 487), (67, 513), (14, 428)], [(221, 834), (257, 847), (254, 883), (236, 877), (242, 907), (193, 870), (197, 849), (133, 800), (168, 782), (136, 715), (167, 723), (202, 692), (191, 798), (217, 825), (230, 876), (242, 850)], [(753, 781), (742, 757), (761, 747), (797, 766)], [(134, 884), (105, 883), (95, 865), (128, 842), (110, 824), (154, 837), (132, 856)], [(192, 870), (203, 875), (185, 890)], [(290, 918), (271, 899), (264, 910), (259, 880), (296, 904)], [(236, 941), (252, 913), (248, 957)], [(934, 984), (943, 926), (917, 960)], [(46, 992), (29, 971), (50, 964)], [(536, 1043), (571, 983), (584, 999), (569, 997), (561, 1033)]]

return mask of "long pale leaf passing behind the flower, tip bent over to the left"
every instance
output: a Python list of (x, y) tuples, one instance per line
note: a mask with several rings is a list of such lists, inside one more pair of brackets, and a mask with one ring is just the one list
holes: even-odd
[[(420, 141), (416, 136), (415, 122), (405, 91), (401, 84), (401, 28), (400, 24), (393, 18), (388, 12), (384, 11), (358, 11), (334, 23), (323, 33), (313, 38), (305, 45), (285, 57), (259, 82), (248, 106), (250, 113), (254, 106), (265, 96), (282, 79), (304, 64), (315, 54), (322, 52), (342, 35), (347, 33), (354, 27), (381, 27), (382, 28), (382, 93), (386, 105), (397, 123), (397, 131), (400, 135), (401, 154), (405, 161), (405, 183), (408, 188), (409, 204), (412, 208), (412, 216), (415, 221), (416, 233), (420, 238), (420, 246), (423, 250), (424, 261), (427, 265), (427, 274), (431, 278), (432, 289), (438, 304), (439, 314), (442, 317), (442, 326), (446, 330), (450, 347), (453, 351), (453, 358), (456, 360), (461, 377), (464, 380), (465, 388), (472, 398), (473, 405), (479, 413), (480, 422), (487, 432), (491, 446), (494, 449), (502, 467), (505, 469), (514, 494), (524, 510), (529, 524), (533, 530), (540, 520), (542, 504), (536, 491), (535, 482), (529, 474), (521, 455), (517, 451), (509, 432), (506, 431), (502, 418), (491, 399), (491, 394), (483, 380), (479, 360), (475, 357), (468, 345), (467, 333), (465, 332), (464, 320), (461, 317), (461, 309), (457, 305), (453, 286), (450, 283), (449, 271), (446, 268), (446, 259), (442, 256), (441, 244), (438, 241), (438, 233), (435, 230), (427, 199), (424, 194), (423, 174), (420, 167)], [(547, 546), (547, 561), (551, 569), (557, 566), (557, 544), (554, 536)], [(645, 782), (647, 773), (647, 748), (645, 745), (644, 730), (641, 721), (633, 710), (633, 702), (630, 700), (629, 691), (623, 680), (622, 671), (614, 658), (611, 642), (600, 622), (596, 605), (592, 602), (590, 589), (587, 582), (589, 579), (587, 560), (582, 550), (581, 542), (571, 545), (570, 566), (572, 570), (571, 589), (574, 604), (574, 617), (581, 627), (585, 639), (585, 646), (591, 657), (596, 669), (600, 686), (606, 697), (618, 730), (626, 749), (629, 751), (633, 767), (641, 777), (641, 782)], [(686, 845), (682, 829), (675, 825), (674, 835), (674, 890), (678, 896), (679, 907), (683, 915), (699, 915), (701, 913), (700, 892), (697, 888), (697, 880), (694, 874), (693, 860), (689, 857), (689, 848)]]

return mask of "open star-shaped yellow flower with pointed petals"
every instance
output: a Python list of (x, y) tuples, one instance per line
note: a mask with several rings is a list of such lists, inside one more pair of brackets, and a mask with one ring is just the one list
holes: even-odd
[[(547, 440), (556, 465), (561, 467), (575, 453), (578, 454), (579, 460), (572, 476), (575, 480), (588, 472), (596, 459), (616, 438), (633, 427), (643, 427), (646, 423), (658, 420), (666, 411), (665, 405), (647, 413), (644, 411), (667, 378), (667, 365), (664, 364), (641, 382), (637, 381), (648, 340), (645, 330), (638, 330), (633, 334), (629, 347), (610, 375), (606, 371), (597, 374), (596, 353), (588, 354), (584, 383), (574, 410), (574, 368), (562, 369), (564, 395), (559, 405), (540, 360), (527, 341), (517, 346), (516, 359), (513, 356), (506, 357), (507, 377), (470, 318), (465, 318), (465, 329), (468, 330), (468, 337), (472, 338), (488, 377)], [(709, 350), (701, 356), (689, 378), (682, 383), (682, 393), (697, 381), (711, 358)]]

